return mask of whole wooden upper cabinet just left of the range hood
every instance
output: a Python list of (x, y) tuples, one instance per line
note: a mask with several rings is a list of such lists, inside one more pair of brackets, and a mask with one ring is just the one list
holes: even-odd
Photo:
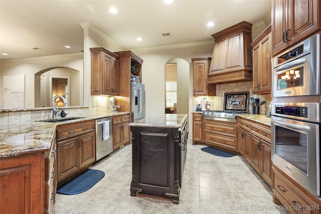
[(193, 62), (193, 96), (216, 95), (216, 85), (207, 84), (207, 75), (210, 70), (211, 57), (192, 58)]

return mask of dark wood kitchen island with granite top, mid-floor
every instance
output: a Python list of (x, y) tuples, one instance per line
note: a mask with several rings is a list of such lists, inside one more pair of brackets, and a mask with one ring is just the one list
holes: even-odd
[(164, 114), (129, 124), (132, 140), (130, 195), (180, 201), (187, 153), (187, 115)]

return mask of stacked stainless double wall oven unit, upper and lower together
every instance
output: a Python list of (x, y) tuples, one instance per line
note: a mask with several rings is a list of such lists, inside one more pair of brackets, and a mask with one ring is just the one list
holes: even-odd
[(272, 61), (273, 164), (321, 200), (320, 35)]

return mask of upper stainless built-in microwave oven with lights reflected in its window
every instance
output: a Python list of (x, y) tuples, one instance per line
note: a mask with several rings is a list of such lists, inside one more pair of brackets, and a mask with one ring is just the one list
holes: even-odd
[(319, 94), (320, 35), (273, 58), (272, 96)]

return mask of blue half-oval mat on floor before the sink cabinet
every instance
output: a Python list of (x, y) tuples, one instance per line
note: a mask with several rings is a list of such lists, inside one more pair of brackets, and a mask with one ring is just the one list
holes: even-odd
[(57, 193), (75, 195), (87, 191), (105, 176), (105, 173), (96, 169), (87, 169), (65, 185), (57, 189)]

